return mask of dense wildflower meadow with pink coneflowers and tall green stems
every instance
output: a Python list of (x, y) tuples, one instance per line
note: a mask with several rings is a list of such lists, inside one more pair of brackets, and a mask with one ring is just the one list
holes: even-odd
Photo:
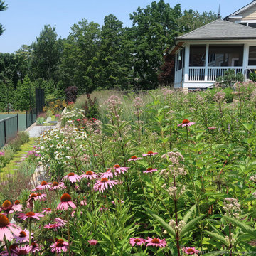
[(25, 160), (44, 180), (1, 202), (0, 255), (256, 254), (256, 84), (229, 94), (78, 99)]

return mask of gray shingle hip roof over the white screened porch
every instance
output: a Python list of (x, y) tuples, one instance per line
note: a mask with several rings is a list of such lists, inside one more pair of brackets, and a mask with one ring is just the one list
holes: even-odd
[(176, 40), (182, 41), (203, 39), (256, 39), (256, 28), (218, 19), (176, 38)]

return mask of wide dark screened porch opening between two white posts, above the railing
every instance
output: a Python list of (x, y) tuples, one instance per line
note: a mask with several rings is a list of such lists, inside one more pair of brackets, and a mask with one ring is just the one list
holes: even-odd
[[(213, 59), (212, 56), (215, 55)], [(210, 45), (208, 66), (209, 67), (240, 67), (242, 66), (243, 45), (220, 46)]]

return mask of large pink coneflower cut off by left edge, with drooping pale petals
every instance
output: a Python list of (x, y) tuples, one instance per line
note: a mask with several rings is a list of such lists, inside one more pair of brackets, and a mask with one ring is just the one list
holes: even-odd
[(4, 240), (4, 236), (7, 240), (11, 241), (14, 235), (18, 235), (20, 231), (21, 228), (10, 223), (9, 218), (0, 213), (0, 241)]

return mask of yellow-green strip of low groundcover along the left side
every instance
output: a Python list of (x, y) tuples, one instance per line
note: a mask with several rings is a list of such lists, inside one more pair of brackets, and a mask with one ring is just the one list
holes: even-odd
[(21, 148), (17, 151), (9, 164), (6, 164), (6, 166), (0, 170), (0, 180), (3, 180), (6, 174), (14, 174), (14, 170), (18, 169), (16, 166), (17, 163), (21, 161), (22, 156), (25, 156), (28, 151), (31, 151), (33, 149), (35, 141), (36, 138), (30, 138), (28, 142), (21, 145)]

